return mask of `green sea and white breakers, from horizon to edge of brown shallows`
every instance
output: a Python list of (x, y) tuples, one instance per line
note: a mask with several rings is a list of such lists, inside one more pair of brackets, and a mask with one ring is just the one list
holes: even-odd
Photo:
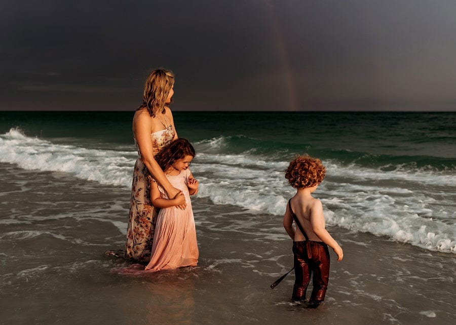
[[(456, 253), (456, 113), (175, 112), (199, 197), (281, 215), (296, 153), (322, 159), (327, 224)], [(132, 112), (3, 112), (0, 162), (130, 189)], [(319, 126), (322, 132), (310, 132)], [(195, 167), (195, 169), (194, 169)]]

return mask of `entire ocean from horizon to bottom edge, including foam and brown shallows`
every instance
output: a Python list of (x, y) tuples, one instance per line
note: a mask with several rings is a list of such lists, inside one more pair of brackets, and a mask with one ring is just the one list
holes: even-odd
[[(0, 112), (0, 323), (447, 324), (456, 288), (456, 113), (180, 112), (197, 155), (198, 267), (141, 276), (123, 249), (134, 112)], [(288, 162), (344, 250), (326, 300), (291, 301)]]

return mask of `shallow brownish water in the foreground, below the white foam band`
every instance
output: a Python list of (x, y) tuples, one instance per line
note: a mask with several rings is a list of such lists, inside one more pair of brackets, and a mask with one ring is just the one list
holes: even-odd
[(318, 309), (290, 300), (282, 218), (193, 200), (196, 268), (119, 274), (129, 190), (0, 163), (1, 323), (447, 324), (455, 317), (453, 254), (328, 227), (345, 257)]

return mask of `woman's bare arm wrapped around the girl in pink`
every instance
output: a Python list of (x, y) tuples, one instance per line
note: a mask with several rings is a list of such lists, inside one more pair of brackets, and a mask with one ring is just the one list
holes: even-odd
[(169, 197), (179, 198), (180, 204), (185, 204), (185, 197), (178, 195), (181, 193), (177, 188), (174, 188), (168, 179), (165, 177), (162, 169), (154, 158), (154, 148), (150, 141), (150, 115), (147, 110), (140, 110), (135, 113), (133, 118), (133, 133), (136, 143), (141, 153), (142, 162), (147, 167), (149, 173), (162, 185)]

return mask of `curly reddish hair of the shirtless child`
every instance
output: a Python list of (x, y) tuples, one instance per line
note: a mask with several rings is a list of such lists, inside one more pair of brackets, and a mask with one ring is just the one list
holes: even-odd
[(285, 178), (293, 188), (299, 189), (320, 184), (325, 178), (325, 173), (326, 167), (321, 164), (321, 160), (306, 153), (291, 160), (285, 171)]

